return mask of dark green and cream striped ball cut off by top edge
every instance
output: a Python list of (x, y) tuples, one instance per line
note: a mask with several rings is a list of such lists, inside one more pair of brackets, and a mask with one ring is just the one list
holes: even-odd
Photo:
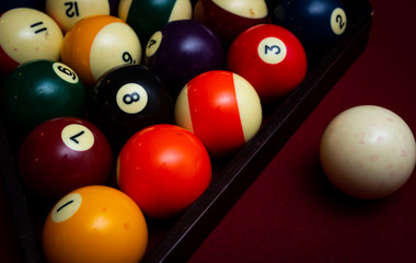
[(142, 46), (160, 27), (176, 20), (190, 20), (189, 0), (120, 0), (118, 16), (138, 34)]

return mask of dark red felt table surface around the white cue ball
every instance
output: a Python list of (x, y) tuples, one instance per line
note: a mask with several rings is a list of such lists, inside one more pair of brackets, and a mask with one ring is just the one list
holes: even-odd
[(367, 49), (324, 98), (189, 262), (416, 262), (416, 172), (393, 195), (359, 201), (326, 180), (327, 124), (362, 104), (416, 133), (416, 1), (370, 1)]

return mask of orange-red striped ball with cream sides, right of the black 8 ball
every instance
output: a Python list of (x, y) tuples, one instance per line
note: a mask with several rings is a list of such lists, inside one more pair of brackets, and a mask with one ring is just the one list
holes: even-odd
[(194, 133), (211, 157), (235, 153), (262, 125), (262, 104), (247, 80), (226, 71), (198, 75), (181, 91), (175, 121)]

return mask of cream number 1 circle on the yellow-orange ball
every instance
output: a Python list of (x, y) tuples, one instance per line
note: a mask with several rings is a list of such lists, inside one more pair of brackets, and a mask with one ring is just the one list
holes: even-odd
[(54, 222), (62, 222), (71, 218), (80, 208), (82, 203), (82, 196), (73, 193), (62, 197), (51, 210), (51, 220)]

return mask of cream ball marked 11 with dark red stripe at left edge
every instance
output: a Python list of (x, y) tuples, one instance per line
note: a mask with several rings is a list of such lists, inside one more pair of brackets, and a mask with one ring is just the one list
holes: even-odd
[(46, 13), (18, 8), (0, 16), (0, 72), (9, 75), (33, 59), (58, 61), (63, 35)]

